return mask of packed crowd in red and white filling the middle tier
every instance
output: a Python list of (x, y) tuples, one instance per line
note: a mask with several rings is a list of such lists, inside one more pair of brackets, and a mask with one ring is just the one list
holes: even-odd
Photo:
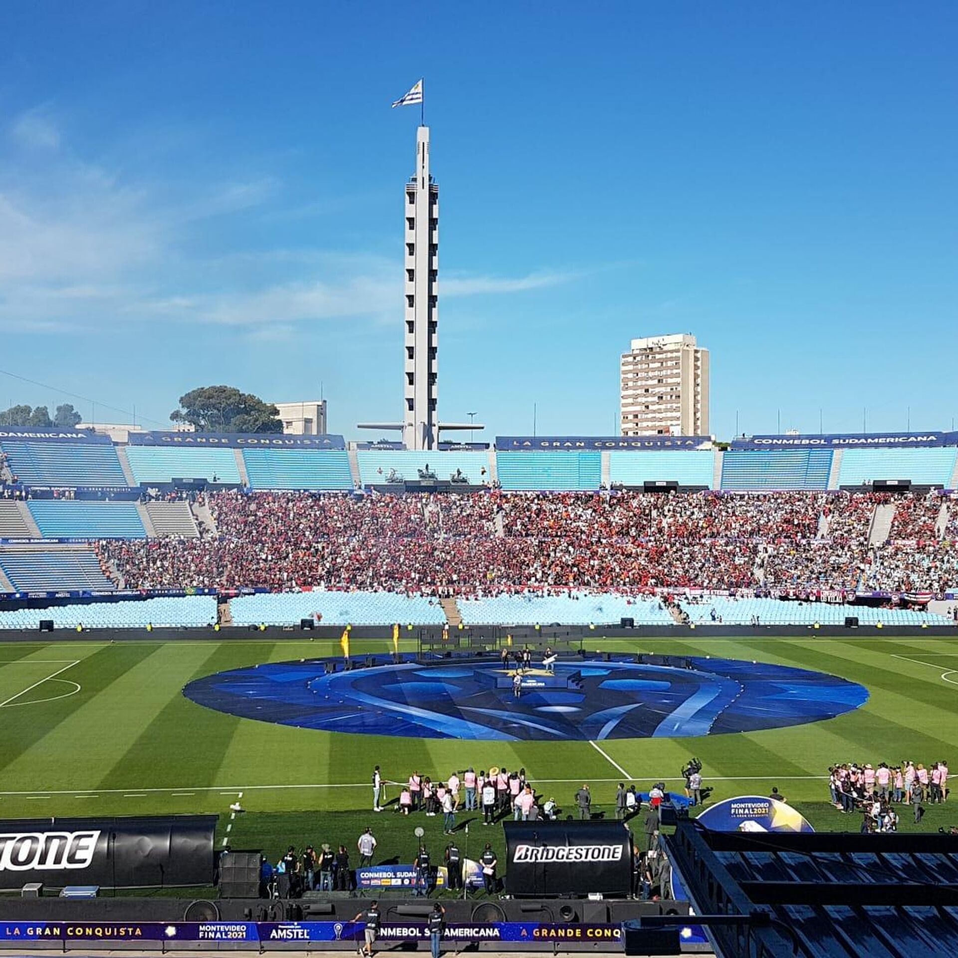
[[(958, 584), (940, 496), (887, 493), (352, 495), (222, 491), (217, 534), (109, 541), (127, 587), (914, 589)], [(892, 536), (869, 544), (878, 505)], [(948, 524), (950, 523), (950, 524)], [(708, 561), (703, 562), (703, 555)]]

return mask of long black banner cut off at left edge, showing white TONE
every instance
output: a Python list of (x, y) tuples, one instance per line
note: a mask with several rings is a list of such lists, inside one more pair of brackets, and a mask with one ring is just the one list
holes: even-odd
[(216, 815), (0, 821), (0, 889), (213, 883)]

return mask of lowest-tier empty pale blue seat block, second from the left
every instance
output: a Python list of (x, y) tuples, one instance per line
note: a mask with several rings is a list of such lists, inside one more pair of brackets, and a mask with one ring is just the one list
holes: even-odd
[(324, 626), (441, 626), (445, 613), (436, 599), (391, 592), (274, 592), (240, 596), (230, 603), (235, 626), (298, 626), (320, 613)]

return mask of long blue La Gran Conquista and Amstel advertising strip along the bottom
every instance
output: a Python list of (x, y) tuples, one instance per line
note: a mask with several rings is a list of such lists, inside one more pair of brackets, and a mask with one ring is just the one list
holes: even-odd
[[(0, 943), (38, 942), (356, 942), (362, 922), (0, 922)], [(447, 942), (582, 941), (617, 943), (621, 924), (448, 923)], [(424, 922), (379, 926), (379, 942), (427, 941)], [(621, 946), (616, 946), (619, 950)]]

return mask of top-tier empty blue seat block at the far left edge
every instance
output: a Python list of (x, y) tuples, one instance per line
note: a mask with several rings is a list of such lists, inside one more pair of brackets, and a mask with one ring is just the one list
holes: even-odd
[(129, 486), (112, 443), (44, 443), (5, 439), (0, 448), (27, 486)]

